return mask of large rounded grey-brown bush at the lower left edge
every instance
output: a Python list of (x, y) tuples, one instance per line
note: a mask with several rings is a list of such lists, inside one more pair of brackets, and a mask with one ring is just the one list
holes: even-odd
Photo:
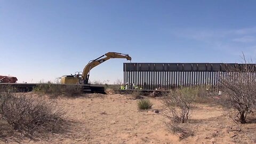
[(55, 103), (32, 95), (0, 94), (0, 114), (7, 123), (21, 133), (33, 137), (35, 132), (53, 131), (61, 123), (65, 112)]

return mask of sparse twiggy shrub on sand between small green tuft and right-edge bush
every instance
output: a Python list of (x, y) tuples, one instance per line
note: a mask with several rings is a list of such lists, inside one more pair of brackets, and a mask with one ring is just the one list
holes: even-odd
[(190, 130), (186, 129), (185, 123), (191, 114), (192, 102), (196, 95), (196, 91), (185, 88), (170, 91), (168, 95), (162, 98), (165, 109), (163, 114), (168, 119), (166, 122), (167, 129), (174, 134), (180, 134), (181, 139), (192, 134)]

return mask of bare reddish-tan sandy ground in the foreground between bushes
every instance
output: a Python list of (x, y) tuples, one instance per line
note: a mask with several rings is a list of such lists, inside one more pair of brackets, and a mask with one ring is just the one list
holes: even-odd
[[(159, 98), (150, 98), (153, 109), (140, 111), (129, 95), (86, 94), (54, 99), (67, 111), (70, 126), (59, 134), (21, 143), (256, 143), (256, 124), (236, 126), (218, 106), (197, 104), (187, 124), (193, 136), (180, 139), (165, 125)], [(158, 109), (160, 113), (154, 113)], [(239, 131), (239, 129), (242, 131)], [(9, 138), (10, 143), (16, 143)]]

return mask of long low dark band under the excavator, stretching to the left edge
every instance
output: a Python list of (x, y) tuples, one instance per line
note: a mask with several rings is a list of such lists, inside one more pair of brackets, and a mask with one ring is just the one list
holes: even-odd
[[(20, 83), (0, 83), (0, 91), (2, 89), (13, 89), (16, 92), (31, 92), (33, 89), (39, 85), (46, 85), (46, 84), (38, 84), (38, 83), (26, 83), (26, 84), (20, 84)], [(67, 86), (68, 84), (52, 84), (52, 85), (61, 85), (63, 87)], [(72, 84), (74, 86), (82, 86), (82, 92), (83, 93), (105, 93), (105, 89), (103, 86), (100, 85), (90, 85), (90, 84)]]

